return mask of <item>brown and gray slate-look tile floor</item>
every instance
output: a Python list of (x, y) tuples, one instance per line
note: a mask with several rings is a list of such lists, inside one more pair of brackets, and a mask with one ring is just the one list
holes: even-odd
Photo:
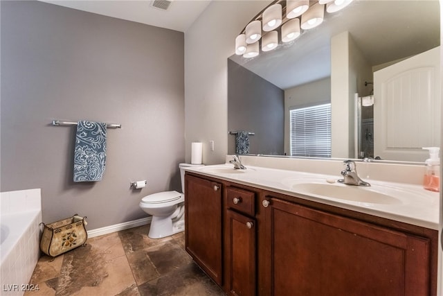
[(42, 256), (30, 284), (38, 295), (224, 295), (184, 250), (184, 233), (151, 239), (149, 225), (89, 238), (87, 245)]

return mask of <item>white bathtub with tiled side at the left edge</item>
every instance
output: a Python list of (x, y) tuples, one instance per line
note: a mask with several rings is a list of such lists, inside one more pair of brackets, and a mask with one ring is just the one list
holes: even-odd
[(39, 259), (40, 189), (0, 193), (0, 295), (23, 295)]

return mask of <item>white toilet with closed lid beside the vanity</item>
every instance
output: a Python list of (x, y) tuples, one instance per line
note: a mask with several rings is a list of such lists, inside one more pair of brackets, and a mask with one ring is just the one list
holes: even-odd
[(146, 195), (140, 202), (140, 207), (152, 216), (150, 238), (163, 238), (185, 230), (185, 170), (190, 166), (203, 164), (179, 164), (181, 191), (163, 191)]

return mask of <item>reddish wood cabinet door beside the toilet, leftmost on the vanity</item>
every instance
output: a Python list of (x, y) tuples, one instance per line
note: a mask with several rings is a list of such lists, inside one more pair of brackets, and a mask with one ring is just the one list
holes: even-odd
[(186, 251), (221, 285), (221, 184), (186, 175)]

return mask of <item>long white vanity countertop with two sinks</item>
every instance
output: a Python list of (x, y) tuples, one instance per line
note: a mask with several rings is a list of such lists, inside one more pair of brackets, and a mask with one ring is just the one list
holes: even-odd
[[(198, 166), (186, 168), (186, 171), (216, 177), (220, 180), (236, 182), (260, 189), (283, 193), (285, 195), (321, 202), (343, 209), (397, 220), (430, 229), (439, 229), (440, 193), (427, 191), (422, 186), (395, 182), (370, 180), (370, 187), (345, 185), (336, 182), (340, 175), (322, 175), (300, 171), (287, 171), (275, 168), (248, 166), (246, 170), (234, 170), (232, 164)], [(331, 198), (325, 195), (307, 193), (302, 187), (294, 184), (316, 183), (320, 186), (350, 186), (352, 196), (360, 195), (363, 191), (375, 193), (377, 198), (386, 196), (386, 200), (394, 198), (394, 202), (356, 201), (342, 198)], [(324, 185), (323, 185), (324, 184)], [(326, 187), (328, 188), (328, 187)], [(337, 188), (331, 188), (337, 189)], [(347, 189), (344, 189), (347, 190)], [(361, 191), (361, 192), (359, 192)], [(350, 195), (350, 196), (351, 196)]]

